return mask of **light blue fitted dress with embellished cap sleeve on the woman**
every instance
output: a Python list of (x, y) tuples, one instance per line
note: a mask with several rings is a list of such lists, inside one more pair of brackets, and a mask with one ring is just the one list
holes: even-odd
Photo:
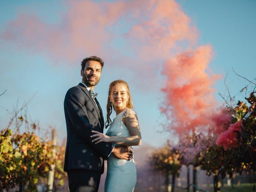
[[(130, 133), (122, 122), (122, 118), (130, 114), (136, 114), (132, 109), (126, 109), (118, 114), (110, 125), (106, 135), (127, 137)], [(131, 146), (133, 150), (133, 146)], [(133, 192), (137, 181), (134, 158), (132, 160), (118, 159), (110, 154), (108, 157), (108, 169), (105, 180), (105, 192)]]

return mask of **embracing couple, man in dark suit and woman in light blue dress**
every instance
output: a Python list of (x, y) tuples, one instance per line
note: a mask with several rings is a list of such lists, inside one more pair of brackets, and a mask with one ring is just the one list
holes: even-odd
[[(95, 86), (104, 61), (96, 56), (81, 62), (82, 82), (68, 90), (64, 100), (67, 143), (64, 171), (70, 192), (97, 192), (104, 160), (108, 161), (105, 192), (132, 192), (136, 184), (133, 147), (141, 144), (140, 127), (128, 84), (113, 81), (109, 86), (107, 120)], [(112, 110), (116, 117), (112, 121)], [(106, 135), (104, 126), (109, 127)]]

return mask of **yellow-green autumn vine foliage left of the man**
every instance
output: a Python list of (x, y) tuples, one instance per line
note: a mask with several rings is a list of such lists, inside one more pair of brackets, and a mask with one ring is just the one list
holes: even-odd
[[(20, 122), (23, 120), (22, 116), (18, 118)], [(20, 122), (16, 123), (18, 129)], [(25, 123), (28, 124), (27, 121)], [(36, 125), (31, 126), (31, 130), (35, 131)], [(63, 171), (64, 144), (54, 146), (51, 140), (42, 140), (33, 131), (20, 133), (16, 127), (16, 132), (13, 133), (9, 127), (0, 132), (0, 190), (19, 186), (20, 191), (21, 188), (25, 191), (37, 191), (36, 185), (45, 183), (51, 164), (55, 164), (55, 186), (63, 185), (66, 178)]]

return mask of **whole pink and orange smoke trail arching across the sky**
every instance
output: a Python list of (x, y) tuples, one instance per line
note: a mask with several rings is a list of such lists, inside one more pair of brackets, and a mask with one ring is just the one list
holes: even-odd
[[(212, 47), (196, 48), (196, 26), (174, 0), (72, 0), (59, 23), (20, 14), (0, 38), (55, 61), (76, 63), (98, 55), (112, 66), (132, 71), (140, 88), (164, 87), (161, 110), (178, 132), (208, 126), (217, 105), (212, 86), (220, 76), (208, 66)], [(113, 43), (117, 39), (124, 45)], [(166, 85), (158, 78), (161, 68)]]

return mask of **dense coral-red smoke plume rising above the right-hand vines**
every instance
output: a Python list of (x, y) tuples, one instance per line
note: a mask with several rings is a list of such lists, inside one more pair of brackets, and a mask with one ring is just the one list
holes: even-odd
[(162, 91), (166, 99), (161, 110), (172, 121), (169, 129), (189, 134), (190, 130), (211, 124), (210, 114), (218, 105), (212, 86), (220, 78), (220, 75), (206, 72), (211, 58), (212, 47), (200, 46), (194, 51), (177, 54), (164, 64), (162, 73), (167, 79)]

